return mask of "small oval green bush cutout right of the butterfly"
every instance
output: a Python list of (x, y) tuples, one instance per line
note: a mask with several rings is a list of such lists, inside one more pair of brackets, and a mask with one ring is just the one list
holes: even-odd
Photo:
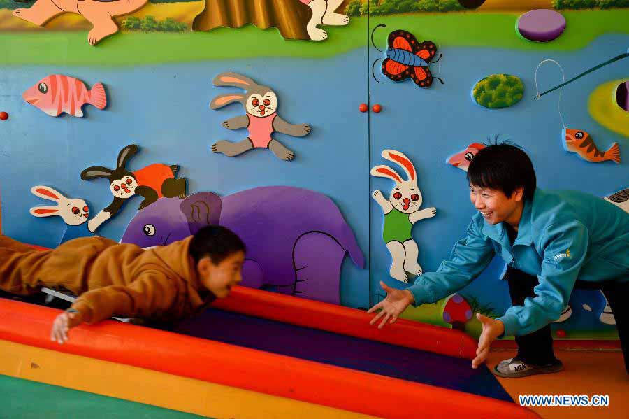
[(524, 85), (519, 77), (492, 74), (480, 80), (472, 90), (477, 104), (485, 108), (508, 108), (524, 96)]

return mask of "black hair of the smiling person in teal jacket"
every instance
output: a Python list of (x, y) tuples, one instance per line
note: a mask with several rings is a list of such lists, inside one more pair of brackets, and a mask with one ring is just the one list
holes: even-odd
[(533, 199), (537, 178), (530, 158), (512, 143), (489, 144), (470, 162), (468, 182), (477, 187), (501, 190), (511, 197), (518, 187), (524, 188), (524, 199)]

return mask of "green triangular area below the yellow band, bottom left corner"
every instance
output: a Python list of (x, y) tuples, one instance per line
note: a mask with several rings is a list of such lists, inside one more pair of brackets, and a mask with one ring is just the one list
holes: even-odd
[(193, 419), (203, 416), (0, 375), (0, 418)]

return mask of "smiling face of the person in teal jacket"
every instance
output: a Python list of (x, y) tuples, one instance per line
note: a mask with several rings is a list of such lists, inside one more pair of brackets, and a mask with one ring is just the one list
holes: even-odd
[(511, 197), (507, 197), (501, 190), (470, 184), (470, 201), (489, 224), (508, 222), (517, 226), (521, 217), (519, 208), (523, 206), (523, 195), (522, 187), (514, 190)]

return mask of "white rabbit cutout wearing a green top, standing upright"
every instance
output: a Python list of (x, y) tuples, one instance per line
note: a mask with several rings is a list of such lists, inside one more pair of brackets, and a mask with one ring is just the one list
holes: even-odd
[(408, 157), (396, 150), (383, 150), (382, 157), (398, 164), (407, 176), (407, 180), (403, 180), (396, 171), (384, 165), (375, 166), (370, 171), (372, 176), (395, 182), (388, 200), (379, 190), (373, 191), (371, 196), (384, 212), (382, 238), (393, 259), (389, 274), (407, 283), (407, 273), (416, 276), (423, 273), (417, 262), (419, 248), (411, 236), (412, 226), (419, 220), (434, 217), (437, 210), (431, 207), (419, 211), (422, 199), (417, 187), (417, 171)]

